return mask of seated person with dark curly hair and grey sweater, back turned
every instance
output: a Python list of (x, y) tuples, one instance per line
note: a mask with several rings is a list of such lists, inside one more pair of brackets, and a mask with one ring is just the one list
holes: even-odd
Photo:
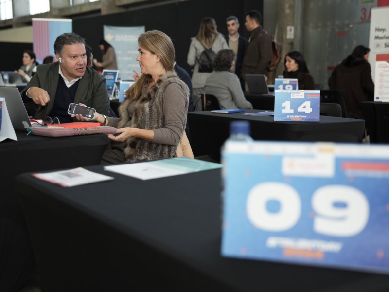
[(242, 91), (239, 78), (232, 73), (235, 53), (230, 49), (217, 52), (213, 59), (213, 72), (205, 80), (205, 94), (216, 96), (222, 109), (252, 109)]

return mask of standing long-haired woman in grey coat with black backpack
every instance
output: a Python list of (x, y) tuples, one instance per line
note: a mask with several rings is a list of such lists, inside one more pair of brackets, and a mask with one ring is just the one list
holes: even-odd
[(223, 35), (217, 32), (215, 19), (203, 18), (197, 36), (191, 40), (187, 57), (187, 63), (192, 68), (195, 111), (202, 110), (200, 95), (205, 93), (205, 80), (213, 70), (214, 56), (221, 49), (228, 49), (228, 45)]

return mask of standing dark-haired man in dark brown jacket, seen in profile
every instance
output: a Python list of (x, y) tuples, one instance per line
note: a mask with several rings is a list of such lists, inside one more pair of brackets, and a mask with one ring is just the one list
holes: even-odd
[(250, 37), (243, 58), (241, 73), (243, 79), (245, 79), (246, 74), (267, 76), (269, 73), (267, 66), (271, 61), (271, 37), (262, 29), (261, 21), (262, 16), (258, 10), (251, 10), (246, 14), (245, 26), (250, 32)]

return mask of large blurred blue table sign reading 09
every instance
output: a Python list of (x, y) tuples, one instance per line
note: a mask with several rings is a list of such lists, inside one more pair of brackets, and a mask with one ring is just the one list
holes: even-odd
[(389, 147), (230, 142), (221, 253), (389, 273)]

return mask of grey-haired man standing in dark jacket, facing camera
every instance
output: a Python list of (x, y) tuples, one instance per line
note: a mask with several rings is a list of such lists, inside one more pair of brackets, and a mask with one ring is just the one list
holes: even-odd
[(239, 20), (236, 16), (229, 16), (226, 19), (228, 35), (226, 36), (229, 48), (235, 53), (235, 66), (231, 69), (232, 73), (235, 73), (239, 81), (241, 82), (242, 90), (245, 90), (245, 81), (241, 77), (242, 71), (242, 62), (243, 57), (245, 56), (245, 49), (247, 44), (247, 39), (242, 37), (238, 33), (239, 29)]

